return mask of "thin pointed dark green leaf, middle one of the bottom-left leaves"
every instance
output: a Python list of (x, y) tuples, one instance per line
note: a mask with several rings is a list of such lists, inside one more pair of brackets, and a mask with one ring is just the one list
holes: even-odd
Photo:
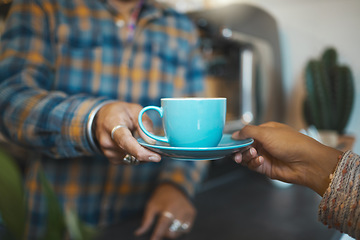
[(39, 171), (39, 179), (42, 185), (42, 189), (45, 192), (48, 212), (47, 228), (43, 239), (61, 240), (63, 239), (66, 230), (63, 211), (53, 189), (51, 188), (49, 181), (47, 180), (42, 170)]

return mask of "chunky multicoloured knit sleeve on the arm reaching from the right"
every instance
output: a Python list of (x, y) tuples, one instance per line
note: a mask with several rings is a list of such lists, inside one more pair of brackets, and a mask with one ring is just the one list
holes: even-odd
[(360, 156), (347, 151), (340, 159), (319, 205), (319, 220), (360, 239)]

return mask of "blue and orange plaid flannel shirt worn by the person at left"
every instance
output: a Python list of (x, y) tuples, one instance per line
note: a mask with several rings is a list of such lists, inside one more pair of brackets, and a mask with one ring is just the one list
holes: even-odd
[(100, 0), (12, 4), (0, 41), (0, 130), (32, 151), (28, 239), (46, 227), (39, 163), (62, 207), (99, 226), (139, 213), (159, 182), (193, 196), (204, 176), (204, 162), (114, 166), (91, 148), (86, 123), (102, 102), (160, 105), (161, 97), (203, 90), (196, 29), (186, 16), (145, 1), (131, 42), (122, 23)]

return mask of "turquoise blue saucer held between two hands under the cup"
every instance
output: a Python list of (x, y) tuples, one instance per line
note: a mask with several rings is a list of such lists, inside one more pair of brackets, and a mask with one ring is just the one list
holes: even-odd
[(149, 144), (142, 138), (138, 138), (137, 141), (142, 146), (157, 152), (164, 157), (185, 161), (221, 159), (239, 152), (242, 148), (249, 146), (254, 142), (253, 139), (234, 140), (231, 138), (231, 134), (224, 134), (217, 147), (209, 148), (171, 147), (169, 144), (162, 142)]

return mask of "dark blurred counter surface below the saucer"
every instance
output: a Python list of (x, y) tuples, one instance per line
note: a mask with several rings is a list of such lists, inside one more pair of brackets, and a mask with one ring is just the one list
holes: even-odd
[[(235, 164), (235, 163), (234, 163)], [(302, 186), (279, 187), (239, 165), (205, 181), (195, 199), (198, 214), (192, 231), (180, 240), (335, 240), (340, 232), (317, 220), (321, 198)], [(112, 226), (101, 240), (134, 237), (141, 216)]]

